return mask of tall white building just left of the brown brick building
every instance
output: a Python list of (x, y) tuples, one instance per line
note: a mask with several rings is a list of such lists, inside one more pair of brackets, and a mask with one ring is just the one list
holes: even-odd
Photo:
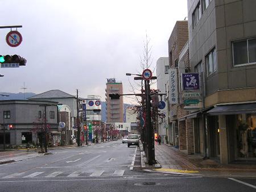
[[(169, 84), (169, 58), (168, 57), (160, 57), (156, 61), (156, 77), (157, 77), (157, 89), (160, 93), (164, 94), (167, 92), (168, 84)], [(161, 119), (158, 118), (158, 127), (157, 133), (161, 135), (162, 139), (166, 138), (168, 140), (168, 103), (167, 103), (167, 96), (163, 95), (162, 97), (159, 96), (158, 100), (166, 103), (164, 108), (159, 109), (165, 115), (165, 118)], [(171, 135), (171, 134), (170, 134)], [(167, 137), (166, 137), (167, 136)], [(172, 138), (172, 137), (171, 137)]]

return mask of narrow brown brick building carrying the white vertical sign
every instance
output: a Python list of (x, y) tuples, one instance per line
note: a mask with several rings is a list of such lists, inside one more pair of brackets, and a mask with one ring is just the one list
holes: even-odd
[(179, 56), (184, 45), (188, 41), (188, 21), (177, 21), (171, 36), (168, 40), (169, 51), (169, 86), (168, 86), (168, 140), (170, 144), (179, 148), (180, 151), (187, 151), (187, 133), (185, 127), (185, 119), (181, 119), (188, 112), (184, 110), (183, 103), (180, 102), (180, 72), (179, 72)]

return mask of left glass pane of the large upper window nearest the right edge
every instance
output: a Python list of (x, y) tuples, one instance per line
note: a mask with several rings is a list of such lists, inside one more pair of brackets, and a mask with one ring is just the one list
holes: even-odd
[(247, 40), (233, 43), (234, 65), (246, 64), (248, 62)]

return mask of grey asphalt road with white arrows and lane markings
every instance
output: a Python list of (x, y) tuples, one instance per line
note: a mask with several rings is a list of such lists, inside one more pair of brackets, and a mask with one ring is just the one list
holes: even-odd
[(0, 191), (256, 191), (256, 180), (144, 172), (121, 140), (0, 166)]

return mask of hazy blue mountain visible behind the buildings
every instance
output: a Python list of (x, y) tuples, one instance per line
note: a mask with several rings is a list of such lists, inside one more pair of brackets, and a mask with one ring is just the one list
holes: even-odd
[[(27, 100), (28, 97), (32, 97), (34, 95), (36, 95), (35, 93), (6, 93), (6, 92), (2, 92), (0, 94), (4, 94), (4, 95), (9, 95), (9, 97), (6, 96), (1, 96), (0, 95), (0, 100)], [(126, 107), (130, 107), (133, 105), (130, 104), (126, 104), (123, 103), (123, 108), (126, 109)], [(106, 102), (105, 101), (101, 101), (101, 120), (102, 122), (106, 122)]]

